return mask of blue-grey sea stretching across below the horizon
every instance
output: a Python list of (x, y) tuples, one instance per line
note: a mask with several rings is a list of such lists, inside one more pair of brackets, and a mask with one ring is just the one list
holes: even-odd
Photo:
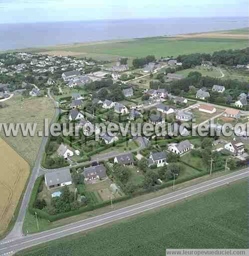
[(0, 23), (0, 50), (248, 27), (248, 17)]

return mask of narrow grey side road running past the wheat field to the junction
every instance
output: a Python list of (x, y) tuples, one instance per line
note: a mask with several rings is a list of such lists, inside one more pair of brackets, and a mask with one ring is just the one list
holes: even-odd
[[(50, 92), (48, 93), (48, 95), (50, 95)], [(57, 118), (57, 116), (59, 115), (59, 112), (60, 112), (59, 108), (55, 107), (55, 113), (54, 113), (54, 117), (53, 117), (52, 121)], [(11, 238), (23, 235), (22, 234), (22, 224), (24, 221), (24, 216), (26, 213), (26, 209), (28, 206), (28, 202), (29, 202), (29, 198), (31, 195), (31, 191), (32, 191), (34, 182), (35, 182), (35, 180), (38, 176), (39, 170), (40, 170), (40, 162), (42, 159), (43, 152), (45, 150), (45, 145), (47, 143), (47, 140), (48, 140), (48, 137), (44, 137), (44, 136), (42, 137), (42, 141), (41, 141), (40, 148), (39, 148), (39, 151), (38, 151), (38, 154), (36, 157), (36, 161), (34, 163), (34, 166), (33, 166), (32, 172), (31, 172), (31, 176), (29, 178), (29, 181), (28, 181), (28, 184), (26, 187), (26, 191), (25, 191), (23, 199), (22, 199), (18, 217), (16, 219), (16, 222), (15, 222), (12, 230), (6, 236), (6, 239), (11, 239)]]

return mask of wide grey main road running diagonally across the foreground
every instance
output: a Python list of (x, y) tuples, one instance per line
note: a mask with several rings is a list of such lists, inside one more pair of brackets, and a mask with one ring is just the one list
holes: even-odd
[(54, 240), (60, 237), (71, 235), (80, 231), (84, 231), (96, 226), (100, 226), (118, 219), (126, 218), (144, 211), (148, 211), (165, 204), (185, 199), (189, 196), (202, 193), (204, 191), (226, 185), (235, 180), (239, 180), (249, 176), (249, 168), (230, 173), (228, 175), (211, 179), (181, 190), (171, 192), (150, 200), (143, 201), (128, 207), (113, 210), (95, 217), (87, 218), (68, 225), (57, 227), (48, 231), (27, 235), (14, 240), (4, 240), (0, 243), (0, 255), (9, 252), (17, 252), (24, 248), (34, 246), (43, 242)]

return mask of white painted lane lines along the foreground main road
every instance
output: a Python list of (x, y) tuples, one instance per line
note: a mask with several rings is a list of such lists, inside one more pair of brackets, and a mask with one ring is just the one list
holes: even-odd
[[(27, 240), (27, 241), (23, 241), (23, 242), (21, 242), (21, 243), (16, 244), (16, 246), (18, 246), (18, 245), (20, 245), (20, 244), (30, 243), (30, 242), (32, 242), (32, 241), (44, 239), (44, 238), (46, 238), (46, 237), (49, 237), (49, 236), (52, 236), (52, 235), (56, 235), (56, 234), (59, 234), (59, 233), (63, 233), (63, 232), (67, 232), (67, 231), (70, 231), (70, 230), (73, 230), (73, 229), (77, 229), (77, 228), (83, 227), (83, 226), (85, 226), (85, 225), (90, 225), (90, 224), (92, 224), (92, 223), (100, 222), (100, 221), (103, 221), (103, 220), (106, 220), (106, 219), (109, 219), (109, 218), (113, 218), (113, 217), (116, 217), (116, 216), (119, 216), (119, 215), (122, 215), (122, 214), (129, 213), (129, 212), (131, 212), (131, 211), (136, 211), (136, 212), (131, 213), (130, 215), (125, 215), (125, 216), (123, 216), (123, 217), (121, 217), (121, 218), (125, 218), (125, 217), (128, 217), (128, 216), (136, 215), (136, 214), (138, 214), (138, 213), (141, 213), (141, 212), (144, 212), (144, 211), (148, 211), (148, 210), (150, 210), (150, 209), (155, 208), (155, 207), (148, 207), (148, 206), (151, 206), (151, 205), (153, 205), (153, 204), (158, 204), (158, 203), (160, 203), (160, 202), (162, 202), (162, 201), (170, 200), (170, 199), (172, 199), (172, 198), (174, 198), (174, 197), (182, 196), (181, 198), (176, 198), (176, 199), (173, 199), (173, 200), (171, 200), (171, 201), (168, 202), (168, 203), (172, 203), (172, 202), (174, 202), (174, 201), (181, 200), (181, 199), (184, 199), (184, 198), (186, 198), (186, 197), (192, 196), (192, 195), (196, 194), (197, 192), (195, 192), (195, 193), (193, 193), (193, 194), (190, 194), (190, 195), (188, 195), (188, 194), (185, 195), (186, 193), (191, 193), (191, 192), (196, 191), (196, 190), (198, 190), (198, 189), (201, 189), (201, 190), (202, 190), (202, 191), (200, 191), (200, 192), (204, 192), (204, 191), (206, 191), (206, 190), (209, 189), (209, 188), (204, 189), (205, 187), (215, 185), (214, 187), (211, 187), (211, 188), (210, 188), (210, 189), (212, 189), (212, 188), (215, 188), (215, 187), (217, 187), (217, 186), (226, 184), (225, 181), (228, 180), (228, 179), (235, 178), (235, 177), (238, 177), (238, 176), (241, 176), (241, 175), (245, 175), (245, 174), (247, 174), (247, 173), (249, 173), (249, 170), (248, 170), (248, 171), (245, 171), (245, 172), (242, 172), (242, 173), (239, 173), (239, 174), (237, 174), (237, 175), (230, 175), (230, 176), (227, 177), (227, 178), (224, 178), (224, 179), (221, 179), (221, 180), (218, 180), (218, 181), (215, 181), (215, 182), (212, 182), (212, 183), (206, 184), (206, 185), (204, 185), (204, 186), (197, 187), (197, 188), (194, 188), (194, 189), (191, 189), (191, 190), (182, 192), (182, 193), (178, 193), (178, 194), (172, 195), (172, 196), (170, 196), (170, 197), (163, 198), (163, 199), (161, 199), (161, 200), (157, 200), (157, 201), (155, 201), (155, 202), (151, 202), (151, 203), (149, 203), (149, 204), (145, 204), (145, 205), (139, 206), (139, 207), (137, 207), (137, 208), (133, 208), (133, 209), (130, 209), (130, 210), (122, 211), (122, 212), (119, 212), (119, 213), (116, 213), (116, 214), (112, 214), (112, 215), (107, 216), (107, 217), (104, 217), (104, 218), (100, 218), (100, 219), (97, 219), (97, 220), (93, 220), (93, 221), (91, 221), (91, 222), (87, 222), (87, 223), (84, 223), (84, 224), (80, 224), (80, 225), (78, 225), (78, 226), (73, 226), (73, 227), (70, 227), (70, 228), (67, 228), (67, 229), (63, 229), (63, 230), (60, 230), (60, 231), (57, 231), (57, 232), (49, 233), (49, 234), (47, 234), (47, 235), (42, 235), (42, 236), (37, 237), (37, 238), (33, 238), (33, 239), (30, 239), (30, 240)], [(232, 180), (232, 181), (235, 181), (235, 180)], [(207, 181), (205, 181), (205, 182), (207, 182)], [(204, 182), (204, 183), (205, 183), (205, 182)], [(225, 183), (223, 183), (223, 182), (225, 182)], [(219, 183), (221, 183), (221, 184), (219, 184)], [(168, 204), (168, 203), (167, 203), (167, 204)], [(156, 207), (160, 207), (160, 206), (162, 206), (162, 205), (159, 205), (159, 206), (156, 206)], [(142, 210), (140, 210), (140, 211), (137, 211), (137, 210), (140, 209), (140, 208), (145, 208), (145, 209), (142, 209)], [(120, 209), (119, 209), (119, 210), (120, 210)], [(109, 212), (109, 213), (110, 213), (110, 212)], [(94, 218), (94, 217), (93, 217), (93, 218)], [(116, 219), (115, 219), (115, 220), (116, 220)], [(100, 223), (100, 224), (97, 224), (97, 225), (95, 225), (95, 226), (93, 226), (93, 227), (100, 226), (100, 225), (106, 224), (106, 223), (111, 222), (111, 221), (112, 221), (112, 220), (107, 221), (107, 222), (105, 222), (105, 223)], [(75, 223), (72, 223), (72, 224), (75, 224)], [(61, 228), (61, 227), (60, 227), (60, 228)], [(90, 228), (92, 228), (92, 227), (90, 227)], [(87, 229), (90, 229), (90, 228), (87, 228)], [(83, 230), (79, 230), (79, 231), (77, 231), (77, 232), (80, 232), (80, 231), (83, 231)], [(66, 234), (66, 235), (71, 235), (71, 234), (69, 233), (69, 234)], [(57, 237), (57, 238), (60, 238), (60, 237)], [(57, 239), (57, 238), (56, 238), (56, 239)], [(33, 244), (33, 245), (36, 245), (36, 244)], [(32, 246), (33, 246), (33, 245), (32, 245)], [(29, 246), (28, 246), (28, 247), (29, 247)], [(0, 249), (0, 250), (6, 249), (6, 248), (7, 248), (7, 247), (2, 248), (2, 249)]]

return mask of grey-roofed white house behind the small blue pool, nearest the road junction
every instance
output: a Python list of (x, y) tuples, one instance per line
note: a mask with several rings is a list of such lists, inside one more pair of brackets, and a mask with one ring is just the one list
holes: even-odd
[(45, 184), (48, 188), (62, 187), (72, 184), (72, 176), (69, 168), (46, 172), (44, 177)]

